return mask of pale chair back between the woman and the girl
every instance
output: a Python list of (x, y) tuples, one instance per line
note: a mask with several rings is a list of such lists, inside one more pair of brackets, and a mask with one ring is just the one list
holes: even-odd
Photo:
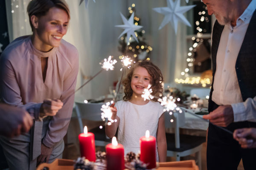
[(75, 103), (76, 111), (80, 112), (81, 118), (91, 121), (102, 121), (102, 111), (100, 109), (102, 108), (102, 105), (104, 105), (105, 103)]

